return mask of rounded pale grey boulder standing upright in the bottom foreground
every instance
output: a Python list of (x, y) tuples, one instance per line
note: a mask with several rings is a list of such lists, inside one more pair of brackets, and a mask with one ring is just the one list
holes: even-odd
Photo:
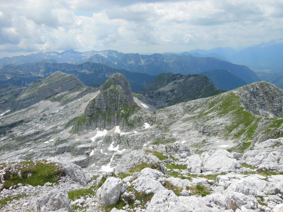
[(96, 196), (103, 206), (115, 205), (126, 188), (120, 178), (109, 177), (97, 190)]

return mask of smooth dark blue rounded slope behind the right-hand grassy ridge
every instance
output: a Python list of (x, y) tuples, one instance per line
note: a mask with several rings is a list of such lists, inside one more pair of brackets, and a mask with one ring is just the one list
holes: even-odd
[(227, 70), (214, 69), (199, 74), (208, 76), (213, 85), (219, 90), (233, 90), (247, 84), (244, 80), (236, 77)]

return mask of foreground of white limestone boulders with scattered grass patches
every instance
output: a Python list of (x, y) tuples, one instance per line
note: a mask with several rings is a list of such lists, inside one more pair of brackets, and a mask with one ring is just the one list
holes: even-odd
[(124, 154), (113, 172), (36, 160), (0, 167), (1, 211), (283, 211), (283, 138), (244, 154), (186, 144)]

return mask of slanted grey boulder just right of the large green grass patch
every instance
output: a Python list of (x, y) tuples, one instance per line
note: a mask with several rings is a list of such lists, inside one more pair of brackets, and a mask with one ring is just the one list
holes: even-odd
[(82, 168), (74, 163), (66, 163), (63, 166), (63, 171), (66, 175), (70, 176), (75, 182), (80, 183), (82, 186), (87, 185), (85, 174), (83, 173)]

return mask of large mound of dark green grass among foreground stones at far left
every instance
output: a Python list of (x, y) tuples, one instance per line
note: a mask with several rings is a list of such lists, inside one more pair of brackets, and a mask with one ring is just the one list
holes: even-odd
[[(15, 186), (18, 183), (23, 185), (44, 185), (45, 183), (57, 183), (60, 176), (64, 173), (60, 170), (59, 165), (55, 163), (47, 163), (45, 160), (36, 161), (22, 161), (14, 165), (17, 168), (17, 172), (12, 173), (10, 165), (7, 166), (6, 174), (4, 175), (5, 182), (4, 188)], [(21, 171), (21, 177), (18, 176), (19, 170)]]

